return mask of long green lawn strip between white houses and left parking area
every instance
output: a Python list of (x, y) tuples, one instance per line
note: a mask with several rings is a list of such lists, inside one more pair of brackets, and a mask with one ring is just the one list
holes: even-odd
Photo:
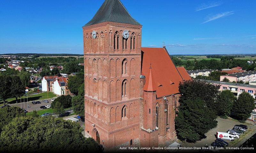
[[(35, 101), (35, 100), (43, 100), (43, 99), (47, 99), (47, 98), (53, 98), (53, 97), (56, 97), (56, 94), (54, 94), (53, 92), (42, 92), (42, 93), (39, 93), (39, 94), (34, 94), (34, 95), (28, 95), (28, 96), (25, 96), (25, 102), (27, 102), (27, 98), (28, 98), (28, 101)], [(21, 97), (21, 102), (23, 102), (24, 100), (24, 97), (22, 96)], [(8, 98), (5, 100), (6, 104), (15, 104), (16, 103), (16, 99), (15, 98)], [(20, 102), (20, 98), (18, 98), (18, 102)], [(0, 101), (0, 106), (1, 105), (4, 105), (4, 101), (1, 100)]]

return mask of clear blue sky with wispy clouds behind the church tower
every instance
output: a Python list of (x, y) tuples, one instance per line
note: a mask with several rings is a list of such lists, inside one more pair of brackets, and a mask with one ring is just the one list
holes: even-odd
[[(83, 54), (82, 26), (104, 0), (0, 2), (0, 54)], [(170, 54), (256, 54), (255, 0), (121, 0), (143, 47)]]

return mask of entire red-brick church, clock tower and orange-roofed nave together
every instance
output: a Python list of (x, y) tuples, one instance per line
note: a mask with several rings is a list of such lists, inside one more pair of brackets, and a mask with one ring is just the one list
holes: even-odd
[(178, 87), (190, 77), (165, 47), (141, 47), (141, 28), (120, 0), (105, 0), (82, 27), (85, 133), (105, 149), (175, 139)]

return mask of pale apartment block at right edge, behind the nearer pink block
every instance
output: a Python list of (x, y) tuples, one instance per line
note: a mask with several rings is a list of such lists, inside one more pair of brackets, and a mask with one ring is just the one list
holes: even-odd
[(246, 82), (255, 82), (256, 81), (256, 71), (245, 71), (245, 72), (239, 72), (234, 74), (227, 74), (220, 77), (220, 81), (222, 81), (224, 78), (229, 79), (230, 82), (238, 82), (243, 81)]

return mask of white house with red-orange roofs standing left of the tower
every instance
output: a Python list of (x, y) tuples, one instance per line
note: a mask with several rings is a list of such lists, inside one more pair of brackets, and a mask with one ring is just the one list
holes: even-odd
[(71, 93), (67, 83), (67, 77), (44, 76), (42, 79), (42, 91), (51, 91), (57, 95), (68, 95)]

